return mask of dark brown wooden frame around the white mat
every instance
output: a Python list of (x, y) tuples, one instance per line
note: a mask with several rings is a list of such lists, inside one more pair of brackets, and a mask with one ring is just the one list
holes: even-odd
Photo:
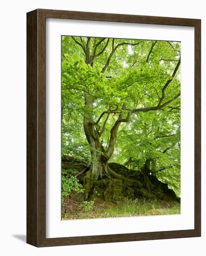
[[(101, 236), (46, 238), (45, 75), (46, 18), (194, 27), (195, 166), (194, 229)], [(201, 236), (201, 20), (37, 9), (27, 13), (27, 243), (37, 247)]]

